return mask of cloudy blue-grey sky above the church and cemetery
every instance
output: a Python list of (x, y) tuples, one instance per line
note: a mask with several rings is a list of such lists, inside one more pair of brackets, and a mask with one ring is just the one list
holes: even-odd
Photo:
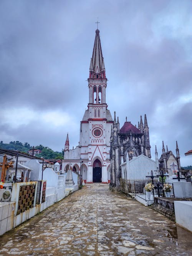
[(88, 104), (97, 18), (107, 103), (120, 126), (147, 115), (151, 153), (162, 140), (192, 165), (192, 1), (1, 0), (0, 140), (61, 151), (78, 145)]

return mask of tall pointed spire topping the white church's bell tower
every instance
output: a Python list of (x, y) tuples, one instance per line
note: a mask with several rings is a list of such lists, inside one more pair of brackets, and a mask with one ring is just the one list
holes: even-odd
[(101, 40), (99, 37), (98, 29), (96, 29), (95, 41), (93, 46), (93, 55), (91, 58), (89, 71), (90, 71), (91, 78), (100, 78), (100, 76), (102, 78), (105, 78), (105, 65), (104, 65), (104, 59), (103, 59), (103, 54), (101, 49)]

